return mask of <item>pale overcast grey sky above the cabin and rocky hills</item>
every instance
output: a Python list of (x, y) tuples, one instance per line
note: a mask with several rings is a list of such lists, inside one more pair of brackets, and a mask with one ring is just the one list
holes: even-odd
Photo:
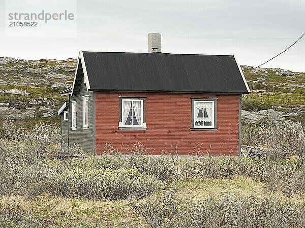
[[(304, 0), (78, 0), (77, 36), (69, 38), (5, 37), (4, 0), (0, 9), (0, 56), (25, 59), (147, 52), (147, 33), (159, 32), (162, 52), (234, 54), (256, 66), (305, 32)], [(305, 71), (304, 51), (305, 37), (262, 67)]]

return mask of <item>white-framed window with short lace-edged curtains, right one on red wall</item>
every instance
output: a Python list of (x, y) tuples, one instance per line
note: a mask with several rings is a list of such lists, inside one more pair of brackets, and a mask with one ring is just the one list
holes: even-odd
[(192, 99), (191, 129), (217, 129), (217, 99)]

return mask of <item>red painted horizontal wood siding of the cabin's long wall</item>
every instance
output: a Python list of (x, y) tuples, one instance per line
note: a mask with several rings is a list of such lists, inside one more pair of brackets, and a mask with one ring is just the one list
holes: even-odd
[[(119, 96), (146, 97), (146, 130), (118, 130)], [(217, 131), (191, 131), (191, 98), (218, 98)], [(105, 143), (122, 149), (145, 143), (151, 154), (238, 154), (239, 95), (174, 93), (96, 93), (96, 153)]]

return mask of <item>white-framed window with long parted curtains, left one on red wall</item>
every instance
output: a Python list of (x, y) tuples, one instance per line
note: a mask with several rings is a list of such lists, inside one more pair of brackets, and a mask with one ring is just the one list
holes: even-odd
[(146, 129), (145, 98), (120, 98), (119, 129)]

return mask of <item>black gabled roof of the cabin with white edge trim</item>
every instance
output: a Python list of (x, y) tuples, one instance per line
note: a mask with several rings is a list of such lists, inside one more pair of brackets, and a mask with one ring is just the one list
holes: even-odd
[(234, 56), (82, 52), (89, 89), (249, 93)]

